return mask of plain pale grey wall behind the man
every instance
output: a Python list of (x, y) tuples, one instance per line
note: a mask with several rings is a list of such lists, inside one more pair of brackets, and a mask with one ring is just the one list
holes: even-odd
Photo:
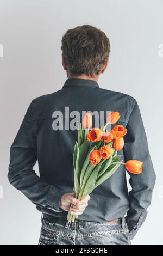
[(1, 245), (39, 240), (40, 212), (7, 179), (9, 149), (32, 99), (59, 90), (67, 78), (62, 34), (86, 23), (110, 39), (110, 63), (99, 86), (139, 103), (157, 176), (148, 217), (133, 245), (163, 244), (162, 8), (161, 0), (0, 0)]

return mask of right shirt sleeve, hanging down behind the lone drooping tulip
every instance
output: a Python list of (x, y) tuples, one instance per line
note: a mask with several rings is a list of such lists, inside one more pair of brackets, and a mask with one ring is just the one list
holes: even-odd
[(133, 239), (147, 216), (147, 208), (151, 204), (152, 191), (155, 184), (155, 172), (149, 154), (147, 136), (141, 113), (136, 100), (131, 107), (127, 128), (124, 136), (124, 160), (135, 159), (143, 162), (141, 174), (131, 174), (129, 183), (132, 190), (129, 192), (130, 209), (127, 212), (126, 222)]

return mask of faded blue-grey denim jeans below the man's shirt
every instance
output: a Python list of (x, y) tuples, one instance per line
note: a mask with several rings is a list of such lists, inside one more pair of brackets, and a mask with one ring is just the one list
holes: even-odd
[(43, 216), (39, 245), (130, 245), (129, 230), (122, 216), (115, 223), (99, 223)]

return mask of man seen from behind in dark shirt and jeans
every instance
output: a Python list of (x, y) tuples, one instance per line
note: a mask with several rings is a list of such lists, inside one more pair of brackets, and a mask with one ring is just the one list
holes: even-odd
[[(9, 181), (43, 213), (39, 245), (130, 245), (146, 218), (155, 184), (139, 106), (132, 96), (99, 88), (97, 81), (108, 66), (110, 52), (104, 32), (89, 25), (69, 29), (62, 37), (61, 50), (67, 80), (58, 92), (30, 104), (11, 145)], [(72, 155), (77, 130), (53, 127), (55, 111), (67, 123), (65, 107), (70, 113), (120, 112), (117, 124), (128, 132), (118, 153), (124, 161), (143, 162), (142, 174), (129, 174), (129, 193), (121, 165), (84, 200), (74, 197)], [(36, 160), (40, 177), (33, 170)], [(69, 209), (79, 216), (71, 224), (66, 220)]]

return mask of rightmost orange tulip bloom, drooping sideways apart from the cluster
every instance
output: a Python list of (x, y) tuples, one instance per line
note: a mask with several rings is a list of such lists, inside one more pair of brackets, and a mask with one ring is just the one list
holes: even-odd
[(126, 169), (133, 174), (142, 173), (143, 162), (138, 160), (129, 160), (126, 162)]

